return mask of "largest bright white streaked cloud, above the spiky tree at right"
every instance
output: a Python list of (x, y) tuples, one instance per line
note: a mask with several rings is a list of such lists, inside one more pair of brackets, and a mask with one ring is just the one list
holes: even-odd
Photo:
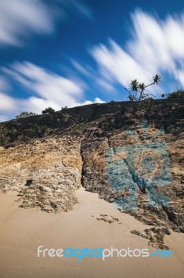
[[(127, 87), (132, 79), (148, 84), (155, 74), (169, 74), (178, 86), (184, 86), (184, 13), (160, 20), (136, 10), (131, 19), (132, 38), (125, 47), (109, 39), (109, 45), (89, 50), (101, 76)], [(160, 87), (149, 90), (163, 91)]]

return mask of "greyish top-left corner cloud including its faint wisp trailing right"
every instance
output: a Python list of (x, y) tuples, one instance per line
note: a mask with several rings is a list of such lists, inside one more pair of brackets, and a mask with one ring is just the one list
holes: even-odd
[(57, 21), (71, 15), (91, 19), (90, 8), (79, 0), (6, 0), (0, 1), (0, 47), (22, 47), (29, 35), (52, 34)]

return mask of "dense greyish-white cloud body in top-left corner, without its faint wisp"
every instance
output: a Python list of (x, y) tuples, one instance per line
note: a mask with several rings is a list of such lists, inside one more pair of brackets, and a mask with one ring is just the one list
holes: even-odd
[(52, 33), (54, 20), (39, 0), (7, 0), (0, 3), (0, 44), (20, 46), (28, 32)]

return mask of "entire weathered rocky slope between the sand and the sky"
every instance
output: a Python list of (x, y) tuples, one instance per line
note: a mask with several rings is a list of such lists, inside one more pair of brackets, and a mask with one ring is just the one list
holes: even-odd
[[(4, 192), (17, 190), (23, 200), (21, 206), (25, 208), (59, 212), (70, 210), (77, 202), (75, 190), (80, 183), (86, 190), (98, 193), (100, 198), (114, 202), (118, 198), (129, 197), (131, 181), (137, 192), (137, 208), (122, 211), (147, 224), (183, 232), (183, 104), (182, 100), (154, 101), (145, 135), (142, 129), (145, 113), (129, 102), (81, 106), (64, 113), (61, 111), (3, 123), (8, 143), (6, 148), (1, 147), (0, 152), (1, 189)], [(43, 126), (45, 130), (41, 132)], [(162, 126), (165, 133), (154, 138)], [(8, 133), (8, 129), (15, 131)], [(128, 129), (132, 133), (127, 133)], [(136, 158), (135, 174), (131, 170), (134, 156), (127, 159), (124, 149), (149, 145), (150, 142), (167, 143), (167, 166), (171, 170), (172, 181), (155, 186), (154, 190), (169, 196), (169, 206), (156, 203), (148, 206), (149, 188), (144, 186), (144, 179), (138, 177), (141, 170), (139, 158)], [(110, 172), (107, 161), (109, 148), (115, 165)], [(122, 151), (117, 152), (118, 148)], [(154, 160), (154, 152), (149, 156)], [(125, 162), (123, 169), (120, 161)], [(166, 163), (166, 160), (163, 164), (158, 163), (158, 172)], [(119, 188), (111, 187), (111, 179), (116, 179)], [(121, 187), (122, 183), (125, 186)]]

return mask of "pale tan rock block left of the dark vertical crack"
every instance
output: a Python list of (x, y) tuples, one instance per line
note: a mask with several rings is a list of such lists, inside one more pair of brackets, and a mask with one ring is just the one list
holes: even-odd
[(34, 140), (0, 150), (0, 187), (17, 190), (21, 207), (42, 211), (69, 211), (77, 203), (82, 160), (80, 140), (71, 136)]

